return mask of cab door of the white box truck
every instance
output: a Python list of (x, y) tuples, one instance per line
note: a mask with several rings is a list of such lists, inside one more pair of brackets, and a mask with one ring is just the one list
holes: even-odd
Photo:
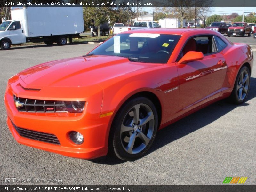
[(21, 28), (20, 21), (14, 21), (9, 27), (12, 44), (26, 43), (26, 36)]

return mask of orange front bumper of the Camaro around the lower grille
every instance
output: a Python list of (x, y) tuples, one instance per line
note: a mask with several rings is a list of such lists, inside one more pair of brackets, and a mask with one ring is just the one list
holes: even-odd
[[(97, 99), (97, 96), (94, 97)], [(102, 100), (102, 95), (99, 98)], [(108, 125), (111, 116), (100, 118), (100, 108), (96, 110), (87, 105), (83, 113), (19, 112), (14, 105), (12, 92), (8, 88), (4, 102), (7, 125), (18, 143), (82, 159), (97, 158), (108, 152)], [(23, 129), (53, 134), (58, 138), (60, 145), (22, 137), (13, 124)], [(70, 131), (83, 134), (83, 144), (73, 143), (68, 137)]]

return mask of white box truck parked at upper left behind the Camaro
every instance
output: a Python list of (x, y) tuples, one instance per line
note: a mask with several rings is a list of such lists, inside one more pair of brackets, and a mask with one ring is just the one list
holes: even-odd
[(65, 45), (84, 31), (82, 7), (11, 7), (11, 16), (0, 25), (2, 50), (26, 42)]

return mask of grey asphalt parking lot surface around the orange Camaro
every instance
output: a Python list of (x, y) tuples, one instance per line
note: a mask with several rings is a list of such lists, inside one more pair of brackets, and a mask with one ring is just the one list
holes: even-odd
[[(252, 37), (230, 37), (237, 42)], [(234, 41), (235, 41), (234, 40)], [(225, 177), (256, 184), (256, 59), (247, 101), (219, 101), (164, 128), (149, 153), (134, 162), (82, 160), (18, 144), (6, 125), (8, 78), (39, 63), (80, 56), (94, 44), (21, 46), (0, 50), (0, 185), (5, 178), (61, 179), (63, 185), (221, 185)], [(256, 52), (254, 52), (256, 55)], [(239, 184), (240, 185), (240, 184)]]

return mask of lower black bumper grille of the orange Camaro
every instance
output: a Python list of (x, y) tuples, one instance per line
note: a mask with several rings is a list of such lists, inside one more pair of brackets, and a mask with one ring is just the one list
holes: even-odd
[(23, 129), (23, 128), (17, 127), (13, 123), (12, 123), (12, 125), (14, 126), (15, 130), (20, 134), (21, 137), (60, 145), (60, 141), (53, 134)]

